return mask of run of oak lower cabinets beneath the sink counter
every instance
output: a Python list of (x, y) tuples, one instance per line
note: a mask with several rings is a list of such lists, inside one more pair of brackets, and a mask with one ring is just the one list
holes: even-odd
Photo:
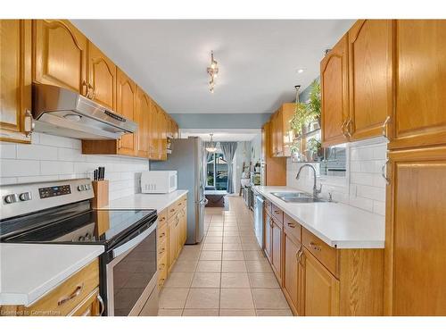
[(264, 251), (294, 315), (383, 315), (384, 249), (330, 247), (266, 211)]

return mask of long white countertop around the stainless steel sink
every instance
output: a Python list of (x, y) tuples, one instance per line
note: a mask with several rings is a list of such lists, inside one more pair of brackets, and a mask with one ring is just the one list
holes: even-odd
[(384, 248), (385, 218), (382, 215), (340, 203), (285, 203), (271, 194), (300, 191), (296, 188), (255, 186), (254, 190), (331, 247)]

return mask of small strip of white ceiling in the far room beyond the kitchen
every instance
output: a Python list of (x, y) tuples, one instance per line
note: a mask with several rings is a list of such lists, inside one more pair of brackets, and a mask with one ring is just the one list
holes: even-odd
[(212, 139), (214, 141), (251, 141), (256, 136), (260, 136), (261, 130), (254, 130), (254, 129), (232, 129), (232, 130), (225, 130), (225, 129), (219, 129), (219, 130), (206, 130), (203, 131), (202, 129), (182, 129), (181, 130), (181, 138), (188, 138), (189, 136), (197, 136), (199, 138), (202, 138), (204, 141), (211, 140), (210, 134), (212, 133)]

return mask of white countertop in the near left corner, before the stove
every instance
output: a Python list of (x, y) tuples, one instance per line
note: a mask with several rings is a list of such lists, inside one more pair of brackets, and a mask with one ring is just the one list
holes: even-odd
[(103, 246), (0, 243), (0, 305), (32, 305), (102, 253)]

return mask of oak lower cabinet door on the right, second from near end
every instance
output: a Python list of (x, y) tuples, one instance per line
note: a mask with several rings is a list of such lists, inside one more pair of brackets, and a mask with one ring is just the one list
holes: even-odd
[(301, 244), (284, 230), (284, 280), (285, 297), (294, 315), (301, 314)]

